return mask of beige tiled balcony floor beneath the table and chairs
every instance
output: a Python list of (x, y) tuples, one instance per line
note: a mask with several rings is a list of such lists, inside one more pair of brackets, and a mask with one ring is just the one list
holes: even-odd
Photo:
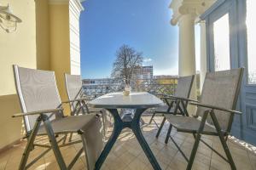
[[(148, 116), (144, 116), (145, 122), (148, 122)], [(160, 117), (157, 118), (157, 122), (160, 122)], [(157, 128), (154, 124), (143, 127), (144, 137), (147, 139), (151, 150), (153, 150), (156, 159), (160, 163), (160, 167), (166, 170), (179, 170), (185, 169), (187, 162), (183, 159), (183, 156), (177, 151), (177, 148), (172, 143), (172, 140), (168, 144), (164, 143), (166, 128), (168, 124), (166, 123), (159, 139), (155, 138)], [(111, 132), (110, 132), (111, 133)], [(194, 139), (190, 134), (177, 133), (172, 131), (172, 136), (177, 140), (177, 143), (182, 146), (184, 153), (189, 156)], [(217, 137), (207, 137), (203, 136), (208, 144), (212, 145), (216, 150), (224, 153), (221, 144)], [(256, 170), (256, 148), (247, 145), (237, 139), (229, 139), (228, 141), (231, 154), (236, 163), (237, 169), (242, 170)], [(26, 143), (16, 145), (12, 149), (7, 150), (0, 154), (0, 169), (14, 170), (18, 169), (20, 163), (20, 157), (22, 151), (25, 148)], [(68, 146), (61, 148), (61, 152), (65, 158), (65, 161), (69, 163), (76, 151), (79, 150), (81, 144), (75, 144), (73, 146)], [(38, 156), (38, 153), (44, 149), (35, 149), (32, 151), (30, 160), (33, 157)], [(30, 169), (58, 169), (55, 157), (52, 151), (41, 158), (36, 164), (34, 164)], [(73, 169), (86, 169), (86, 161), (84, 159), (84, 154), (76, 162)], [(114, 144), (113, 150), (111, 150), (107, 161), (103, 164), (102, 169), (106, 170), (149, 170), (153, 169), (144, 155), (143, 150), (137, 143), (134, 135), (129, 129), (121, 133), (118, 142)], [(199, 150), (196, 154), (193, 169), (230, 169), (227, 162), (222, 160), (218, 155), (209, 150), (206, 145), (200, 144)]]

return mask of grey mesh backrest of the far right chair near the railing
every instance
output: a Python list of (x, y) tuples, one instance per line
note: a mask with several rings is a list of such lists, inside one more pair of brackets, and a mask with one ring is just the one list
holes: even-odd
[(181, 98), (189, 98), (194, 77), (194, 75), (189, 77), (179, 77), (177, 79), (177, 88), (174, 95)]

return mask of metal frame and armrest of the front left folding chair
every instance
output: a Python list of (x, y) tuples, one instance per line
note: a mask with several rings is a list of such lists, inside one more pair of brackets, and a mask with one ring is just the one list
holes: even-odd
[[(19, 170), (24, 170), (24, 169), (27, 169), (27, 168), (31, 167), (36, 161), (38, 161), (45, 154), (47, 154), (49, 152), (49, 150), (53, 150), (54, 155), (55, 155), (55, 159), (56, 159), (59, 167), (61, 168), (61, 170), (71, 169), (73, 167), (73, 165), (75, 164), (75, 162), (78, 161), (79, 156), (81, 156), (83, 151), (86, 152), (85, 156), (87, 156), (87, 150), (86, 150), (85, 147), (83, 147), (83, 146), (86, 145), (86, 141), (82, 137), (84, 135), (84, 131), (82, 129), (79, 129), (77, 131), (77, 133), (81, 136), (81, 139), (76, 139), (74, 141), (71, 141), (71, 140), (67, 141), (67, 135), (72, 134), (73, 132), (65, 131), (65, 132), (55, 133), (49, 118), (51, 116), (54, 116), (54, 115), (56, 117), (60, 118), (60, 119), (61, 119), (61, 117), (64, 118), (65, 116), (63, 114), (62, 105), (66, 104), (66, 103), (75, 102), (75, 100), (69, 100), (69, 101), (66, 101), (66, 102), (61, 102), (61, 104), (58, 105), (56, 109), (27, 112), (25, 102), (24, 102), (24, 99), (23, 99), (23, 94), (22, 94), (21, 89), (20, 89), (20, 77), (19, 77), (18, 68), (19, 68), (18, 65), (13, 65), (13, 69), (14, 69), (14, 73), (15, 73), (16, 91), (17, 91), (17, 94), (20, 98), (20, 106), (21, 106), (22, 113), (15, 114), (12, 117), (22, 116), (24, 121), (26, 122), (25, 116), (38, 115), (37, 120), (36, 120), (34, 126), (32, 127), (32, 129), (28, 131), (27, 128), (26, 128), (26, 136), (24, 137), (24, 139), (27, 139), (27, 144), (26, 144), (26, 149), (24, 150), (24, 152), (22, 154)], [(79, 102), (82, 102), (83, 100), (84, 99), (79, 99)], [(49, 114), (49, 115), (47, 115), (47, 114)], [(43, 123), (43, 125), (42, 125), (42, 123)], [(25, 126), (26, 126), (26, 123), (25, 123)], [(44, 128), (45, 128), (46, 134), (45, 133), (39, 133), (38, 134), (39, 127), (42, 127), (42, 126), (44, 126)], [(63, 134), (63, 137), (61, 137), (61, 139), (57, 140), (57, 138), (59, 138), (60, 134)], [(36, 143), (35, 139), (36, 139), (37, 136), (47, 136), (49, 138), (49, 144)], [(61, 142), (62, 142), (62, 144), (61, 144)], [(63, 156), (61, 155), (60, 148), (71, 145), (71, 144), (78, 144), (78, 143), (83, 143), (82, 148), (77, 152), (76, 156), (73, 157), (73, 160), (69, 163), (69, 165), (66, 165), (66, 163), (63, 159)], [(32, 150), (34, 150), (34, 148), (36, 146), (37, 147), (42, 147), (42, 148), (47, 148), (47, 150), (44, 150), (43, 153), (41, 153), (39, 156), (34, 158), (29, 163), (27, 163), (30, 152)], [(88, 166), (88, 169), (90, 169), (90, 166), (89, 165), (87, 165), (87, 166)]]

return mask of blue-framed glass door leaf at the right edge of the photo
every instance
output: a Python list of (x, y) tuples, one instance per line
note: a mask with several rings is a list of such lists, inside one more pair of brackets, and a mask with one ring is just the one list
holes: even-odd
[[(246, 68), (241, 94), (241, 109), (243, 111), (243, 139), (248, 143), (256, 144), (256, 1), (238, 1), (241, 7), (241, 21), (245, 23), (241, 27), (239, 39), (244, 39), (245, 46), (241, 49), (241, 63)], [(244, 33), (243, 33), (244, 32)], [(242, 57), (242, 55), (244, 57)]]

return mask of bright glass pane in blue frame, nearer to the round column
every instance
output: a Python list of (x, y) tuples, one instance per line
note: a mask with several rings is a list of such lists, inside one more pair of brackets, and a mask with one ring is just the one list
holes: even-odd
[(213, 23), (215, 71), (230, 69), (230, 25), (229, 14)]

